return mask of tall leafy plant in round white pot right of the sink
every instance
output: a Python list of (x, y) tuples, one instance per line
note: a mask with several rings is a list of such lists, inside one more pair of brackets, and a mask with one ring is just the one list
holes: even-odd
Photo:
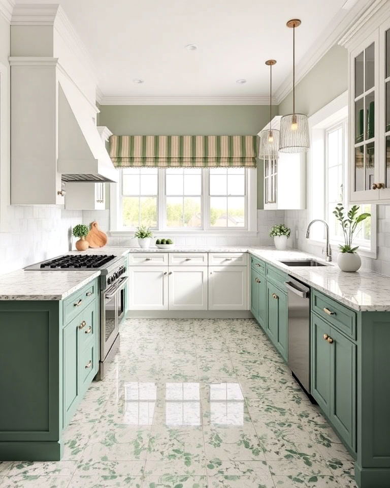
[(337, 256), (337, 264), (342, 271), (354, 272), (362, 265), (362, 260), (356, 250), (359, 246), (352, 247), (353, 234), (356, 232), (358, 225), (363, 222), (371, 214), (358, 214), (360, 206), (353, 205), (345, 216), (344, 207), (339, 203), (334, 209), (333, 213), (336, 219), (340, 222), (343, 229), (344, 245), (339, 246), (340, 253)]

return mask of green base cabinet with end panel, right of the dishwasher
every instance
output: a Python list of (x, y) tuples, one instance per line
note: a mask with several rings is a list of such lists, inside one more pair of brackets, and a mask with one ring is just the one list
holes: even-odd
[(390, 487), (390, 313), (312, 290), (312, 395), (356, 459), (360, 488)]

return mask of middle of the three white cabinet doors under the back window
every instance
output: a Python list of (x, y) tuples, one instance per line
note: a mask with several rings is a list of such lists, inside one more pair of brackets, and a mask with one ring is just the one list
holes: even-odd
[(207, 266), (169, 267), (169, 310), (207, 310)]

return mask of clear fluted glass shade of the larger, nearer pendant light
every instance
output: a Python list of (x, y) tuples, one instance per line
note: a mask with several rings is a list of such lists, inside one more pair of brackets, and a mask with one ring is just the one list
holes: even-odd
[(306, 153), (310, 147), (309, 123), (307, 115), (294, 113), (280, 119), (281, 153)]

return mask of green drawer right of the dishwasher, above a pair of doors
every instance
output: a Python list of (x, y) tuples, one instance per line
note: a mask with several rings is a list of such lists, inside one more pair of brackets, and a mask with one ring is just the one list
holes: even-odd
[(344, 334), (356, 339), (356, 312), (316, 290), (312, 291), (311, 306), (313, 312), (326, 319)]

